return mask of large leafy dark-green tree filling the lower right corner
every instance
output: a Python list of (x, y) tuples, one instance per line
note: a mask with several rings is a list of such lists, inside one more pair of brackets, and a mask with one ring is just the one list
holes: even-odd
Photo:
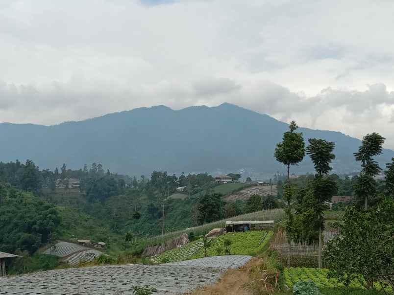
[(341, 234), (324, 251), (331, 275), (346, 284), (357, 279), (367, 289), (382, 280), (394, 290), (393, 200), (388, 198), (368, 211), (349, 206), (339, 230)]

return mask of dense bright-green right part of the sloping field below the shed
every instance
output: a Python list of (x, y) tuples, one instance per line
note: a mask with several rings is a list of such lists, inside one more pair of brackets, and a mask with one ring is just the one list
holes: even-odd
[[(207, 249), (207, 256), (217, 256), (224, 254), (224, 249), (226, 248), (224, 246), (225, 240), (231, 241), (231, 245), (228, 247), (231, 255), (256, 256), (263, 249), (265, 249), (265, 246), (271, 239), (272, 234), (272, 231), (267, 233), (266, 231), (260, 230), (223, 234), (213, 239), (211, 247)], [(260, 244), (261, 241), (262, 243)], [(222, 252), (218, 252), (218, 249), (222, 249)], [(193, 254), (191, 258), (194, 259), (202, 257), (204, 257), (203, 247)]]

